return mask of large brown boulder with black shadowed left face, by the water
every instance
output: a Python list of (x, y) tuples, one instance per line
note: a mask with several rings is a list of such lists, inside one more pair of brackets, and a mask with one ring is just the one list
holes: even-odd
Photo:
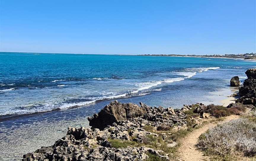
[(120, 123), (120, 121), (129, 118), (143, 116), (144, 113), (146, 113), (144, 107), (139, 107), (132, 103), (113, 101), (109, 105), (106, 105), (98, 114), (88, 117), (88, 120), (92, 129), (98, 128), (103, 130), (108, 125)]

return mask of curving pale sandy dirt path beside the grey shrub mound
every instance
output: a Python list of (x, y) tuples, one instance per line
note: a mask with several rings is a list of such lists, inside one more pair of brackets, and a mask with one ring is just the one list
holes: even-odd
[(209, 123), (204, 125), (203, 127), (194, 130), (187, 137), (182, 139), (181, 147), (179, 148), (179, 153), (181, 159), (184, 161), (205, 161), (209, 160), (207, 156), (204, 156), (203, 152), (197, 150), (196, 144), (198, 143), (199, 136), (206, 132), (209, 128), (215, 127), (217, 124), (223, 124), (230, 120), (238, 119), (239, 116), (231, 115), (225, 117), (224, 121), (216, 121), (213, 123)]

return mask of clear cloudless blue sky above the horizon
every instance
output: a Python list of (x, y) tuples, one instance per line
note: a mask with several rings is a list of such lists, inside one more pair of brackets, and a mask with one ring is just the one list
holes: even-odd
[(0, 51), (256, 52), (255, 0), (0, 0)]

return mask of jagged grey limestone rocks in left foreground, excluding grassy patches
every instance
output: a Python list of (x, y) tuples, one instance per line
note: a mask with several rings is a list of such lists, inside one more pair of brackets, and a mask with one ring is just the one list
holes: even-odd
[(169, 160), (168, 154), (164, 154), (161, 150), (144, 146), (115, 148), (110, 140), (145, 143), (148, 141), (148, 136), (161, 137), (167, 143), (167, 147), (174, 147), (177, 143), (169, 140), (166, 133), (152, 133), (146, 131), (145, 127), (161, 131), (182, 128), (187, 124), (185, 111), (191, 108), (191, 105), (184, 105), (182, 109), (174, 110), (161, 106), (153, 108), (141, 102), (139, 106), (114, 101), (89, 118), (91, 129), (69, 127), (65, 137), (52, 146), (42, 147), (34, 153), (23, 155), (23, 161), (132, 161), (145, 160), (148, 154)]

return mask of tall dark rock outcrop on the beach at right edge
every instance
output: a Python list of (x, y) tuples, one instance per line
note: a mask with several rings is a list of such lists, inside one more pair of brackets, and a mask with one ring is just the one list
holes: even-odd
[(241, 97), (236, 102), (256, 106), (256, 69), (248, 69), (245, 74), (247, 79), (244, 80), (244, 86), (239, 88)]

